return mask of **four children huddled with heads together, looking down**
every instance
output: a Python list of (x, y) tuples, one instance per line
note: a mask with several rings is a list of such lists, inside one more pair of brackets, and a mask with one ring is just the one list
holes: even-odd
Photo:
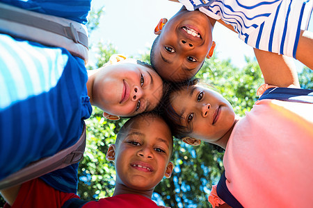
[[(179, 1), (182, 9), (154, 30), (151, 66), (113, 55), (87, 74), (83, 60), (65, 49), (0, 34), (0, 157), (10, 161), (1, 162), (0, 179), (77, 141), (91, 105), (107, 119), (134, 116), (106, 153), (116, 169), (112, 197), (80, 200), (78, 164), (72, 164), (1, 190), (6, 207), (157, 207), (154, 187), (172, 174), (172, 136), (225, 149), (225, 173), (209, 196), (213, 207), (312, 206), (313, 91), (260, 99), (239, 119), (223, 96), (193, 76), (214, 51), (219, 21), (254, 48), (264, 76), (259, 96), (299, 88), (287, 56), (313, 69), (313, 33), (307, 31), (313, 1)], [(80, 18), (84, 23), (86, 14)]]

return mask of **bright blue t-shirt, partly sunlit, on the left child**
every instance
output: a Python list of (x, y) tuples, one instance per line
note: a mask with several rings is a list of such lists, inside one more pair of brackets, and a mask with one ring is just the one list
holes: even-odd
[[(86, 24), (90, 0), (8, 1), (13, 6)], [(66, 49), (0, 34), (0, 180), (30, 162), (72, 146), (92, 112), (85, 64)], [(78, 164), (42, 176), (77, 191)]]

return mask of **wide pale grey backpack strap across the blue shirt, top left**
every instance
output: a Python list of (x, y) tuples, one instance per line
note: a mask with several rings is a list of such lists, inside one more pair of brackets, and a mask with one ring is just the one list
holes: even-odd
[(0, 32), (47, 46), (62, 47), (88, 61), (88, 31), (77, 21), (0, 3)]

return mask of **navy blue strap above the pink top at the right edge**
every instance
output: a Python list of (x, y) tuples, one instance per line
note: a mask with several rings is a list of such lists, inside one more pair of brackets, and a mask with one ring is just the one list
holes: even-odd
[(263, 99), (275, 99), (298, 103), (313, 103), (313, 90), (289, 87), (273, 87), (266, 89), (258, 101)]

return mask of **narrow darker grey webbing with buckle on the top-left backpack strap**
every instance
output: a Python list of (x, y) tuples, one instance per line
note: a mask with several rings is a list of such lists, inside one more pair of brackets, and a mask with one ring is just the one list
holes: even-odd
[(12, 10), (8, 10), (6, 8), (1, 7), (0, 7), (0, 19), (15, 21), (19, 24), (33, 26), (35, 28), (40, 28), (51, 33), (62, 35), (70, 40), (73, 40), (75, 43), (82, 44), (88, 49), (88, 37), (85, 34), (76, 31), (72, 24), (70, 24), (70, 26), (63, 26), (54, 21), (49, 21), (47, 19), (35, 17), (28, 13), (19, 11), (13, 12)]

